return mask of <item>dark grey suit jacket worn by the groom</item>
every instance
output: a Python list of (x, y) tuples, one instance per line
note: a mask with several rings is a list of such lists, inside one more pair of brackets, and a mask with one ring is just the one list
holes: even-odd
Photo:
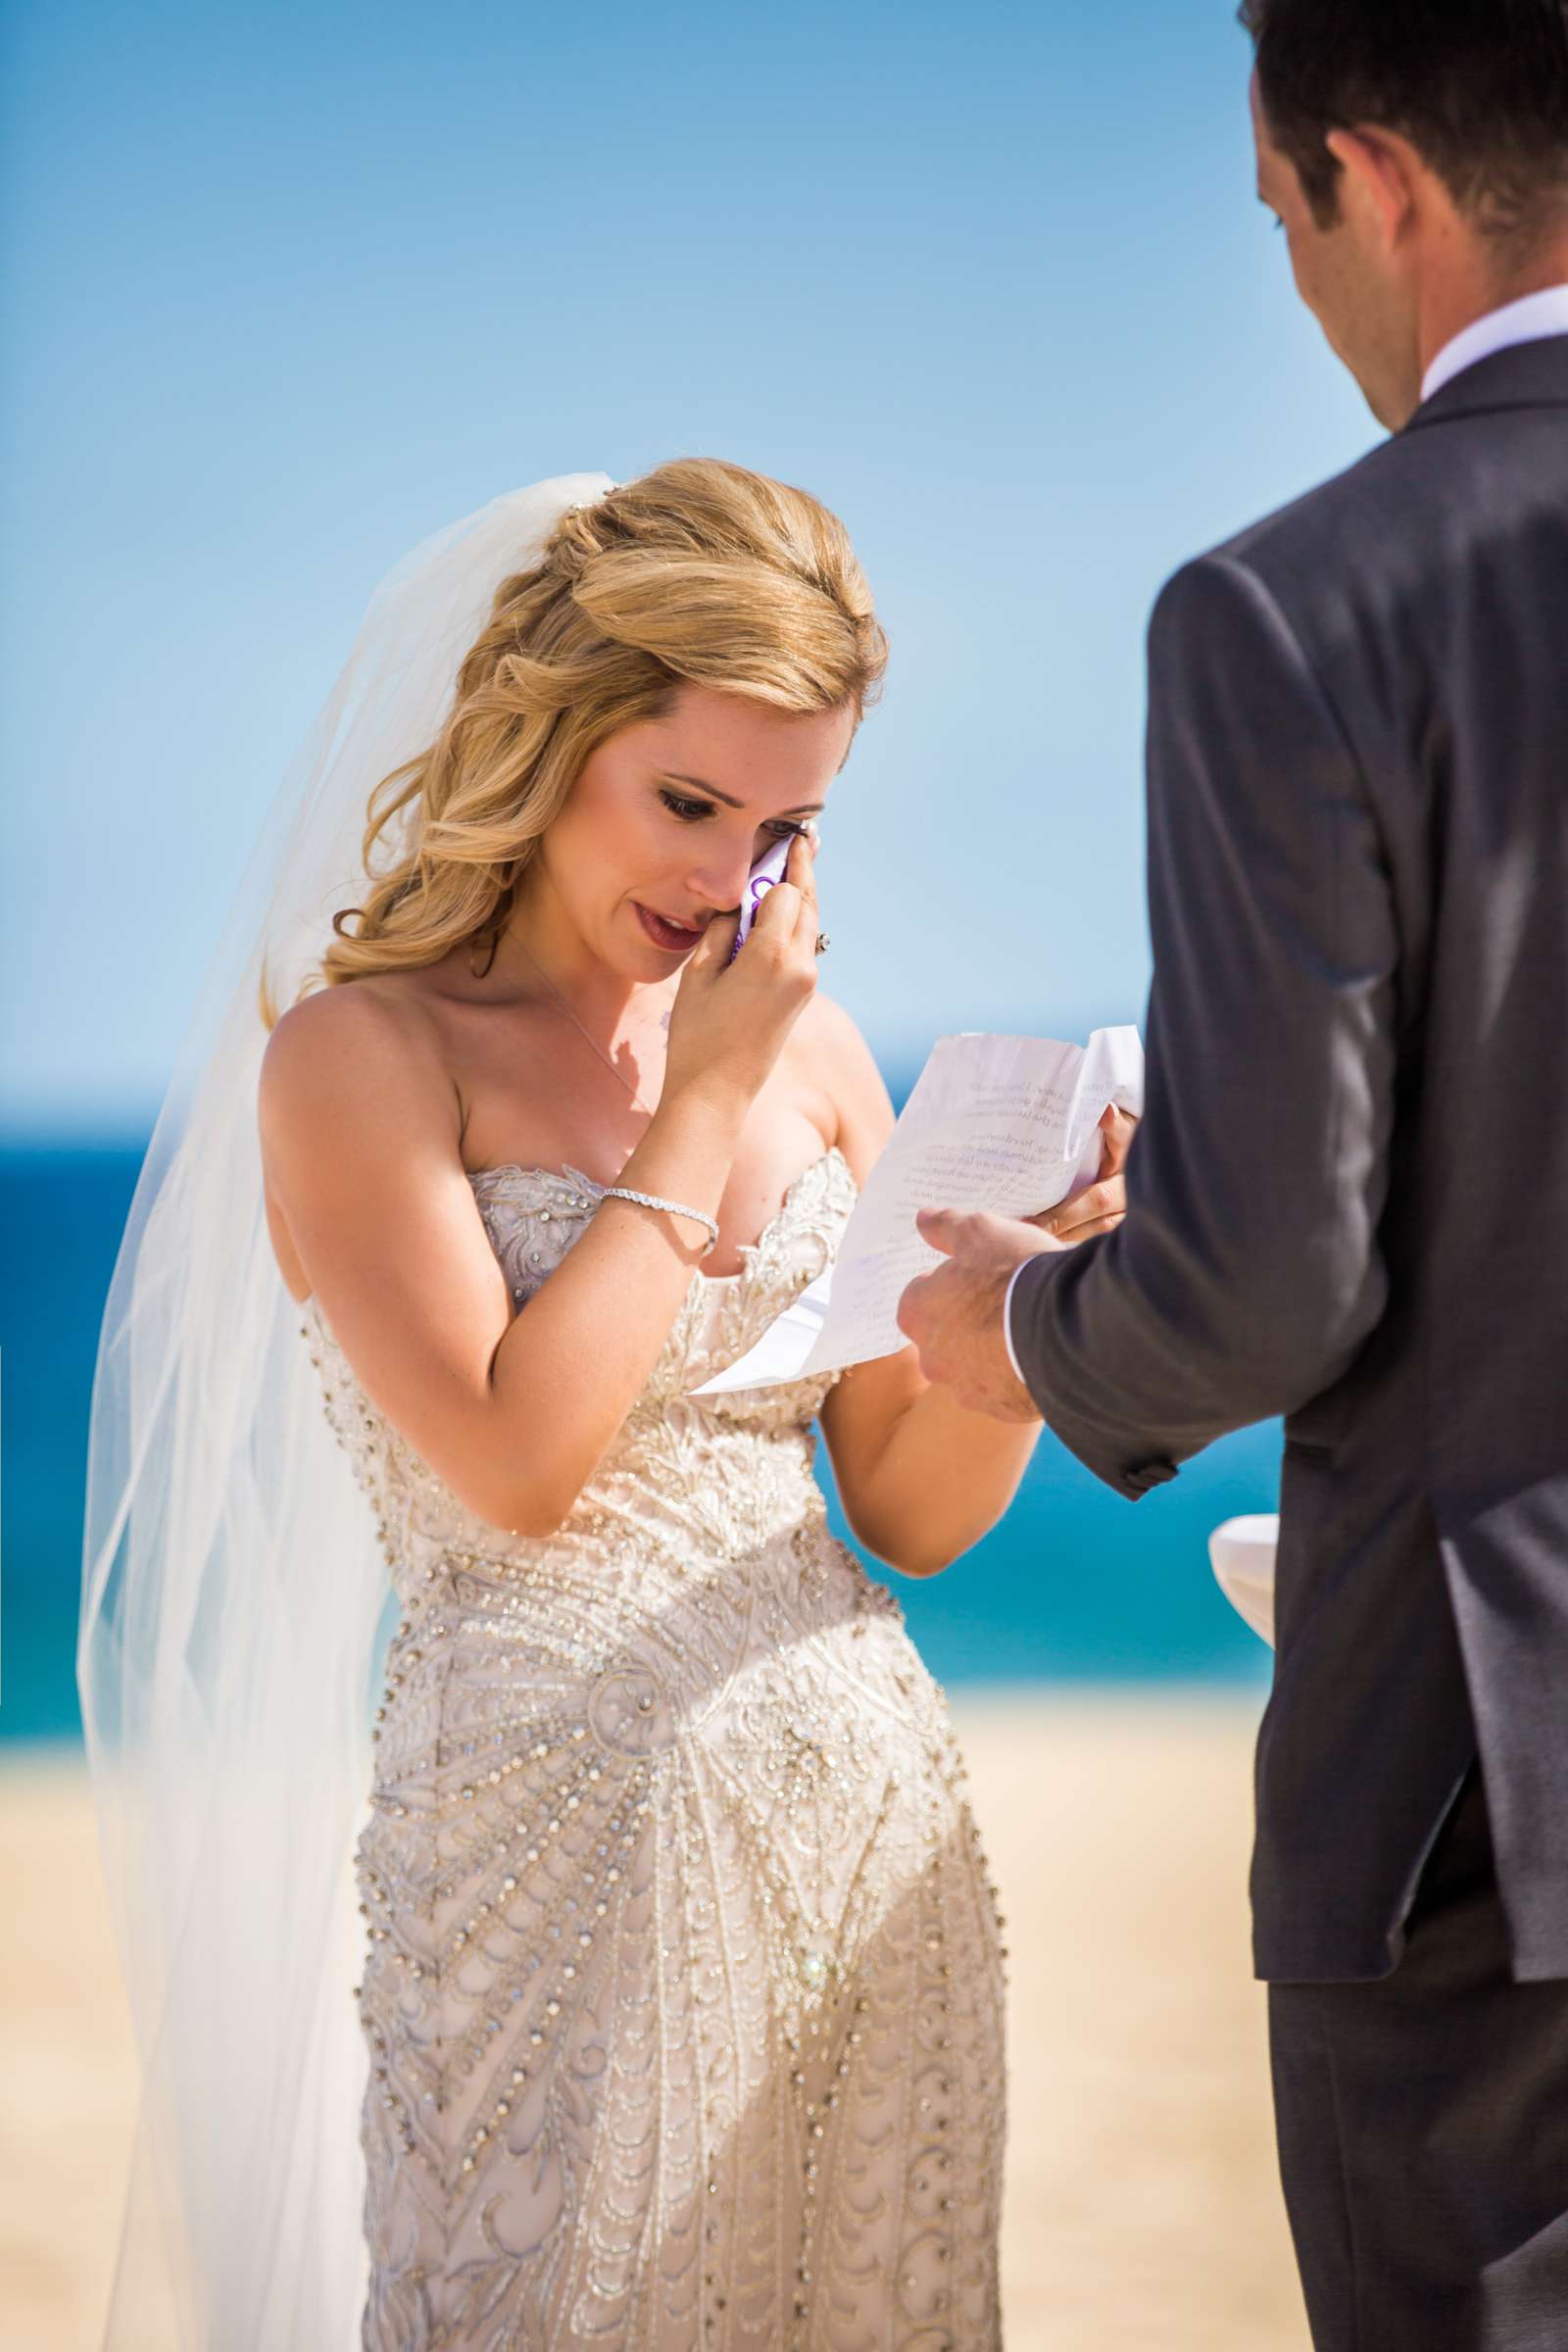
[(1568, 336), (1166, 586), (1150, 922), (1126, 1221), (1011, 1331), (1126, 1496), (1286, 1416), (1258, 1973), (1396, 1966), (1479, 1750), (1568, 1976)]

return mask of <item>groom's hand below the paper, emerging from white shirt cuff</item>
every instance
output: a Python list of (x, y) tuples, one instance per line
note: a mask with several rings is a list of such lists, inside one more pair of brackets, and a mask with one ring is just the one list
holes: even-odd
[(914, 1223), (922, 1242), (947, 1258), (898, 1301), (898, 1329), (914, 1341), (922, 1374), (971, 1414), (1039, 1421), (1006, 1350), (1001, 1305), (1025, 1258), (1067, 1244), (1020, 1218), (964, 1209), (922, 1209)]

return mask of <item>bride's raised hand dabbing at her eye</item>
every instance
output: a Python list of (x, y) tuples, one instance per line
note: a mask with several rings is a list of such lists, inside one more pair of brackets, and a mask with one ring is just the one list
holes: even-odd
[(816, 995), (816, 844), (797, 835), (731, 964), (738, 915), (715, 915), (670, 1009), (663, 1103), (696, 1096), (745, 1112)]

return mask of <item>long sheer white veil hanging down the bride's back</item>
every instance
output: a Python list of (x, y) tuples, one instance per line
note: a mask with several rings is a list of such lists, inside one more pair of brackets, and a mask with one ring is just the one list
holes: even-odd
[(371, 788), (435, 741), (501, 581), (611, 487), (494, 499), (376, 588), (244, 870), (125, 1225), (78, 1646), (141, 2056), (108, 2352), (360, 2343), (353, 1844), (388, 1566), (268, 1242), (259, 981), (266, 957), (294, 1002), (364, 894)]

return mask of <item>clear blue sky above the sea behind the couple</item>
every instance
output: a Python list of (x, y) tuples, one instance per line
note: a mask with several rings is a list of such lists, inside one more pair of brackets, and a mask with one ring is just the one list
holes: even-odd
[(731, 456), (893, 637), (827, 985), (893, 1065), (1138, 1018), (1161, 579), (1375, 437), (1253, 202), (1229, 0), (5, 26), (0, 1120), (150, 1120), (376, 579)]

